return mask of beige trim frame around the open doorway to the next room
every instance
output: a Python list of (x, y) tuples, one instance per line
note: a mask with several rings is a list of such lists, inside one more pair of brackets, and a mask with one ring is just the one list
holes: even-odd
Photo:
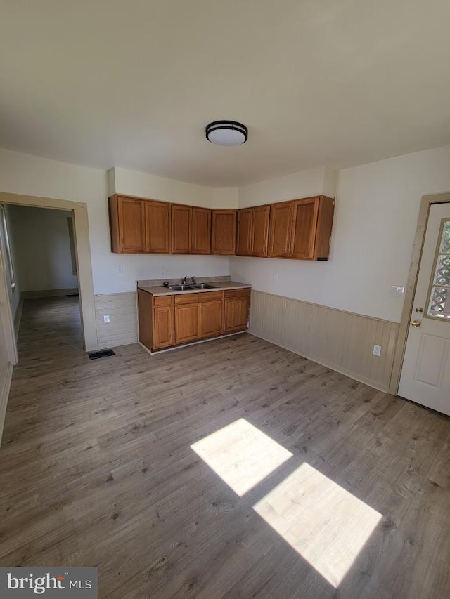
[[(75, 229), (75, 249), (77, 255), (79, 309), (81, 312), (83, 347), (86, 352), (98, 349), (94, 284), (92, 279), (91, 246), (89, 244), (89, 223), (87, 204), (71, 202), (68, 199), (19, 195), (0, 192), (0, 204), (33, 206), (70, 210)], [(14, 324), (12, 323), (12, 326)], [(15, 343), (15, 341), (14, 341)]]

